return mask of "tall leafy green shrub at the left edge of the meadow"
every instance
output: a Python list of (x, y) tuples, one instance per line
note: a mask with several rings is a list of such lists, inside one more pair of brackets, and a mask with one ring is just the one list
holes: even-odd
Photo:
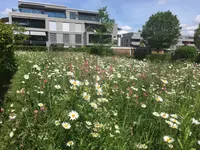
[(26, 39), (23, 33), (24, 29), (17, 25), (0, 22), (0, 104), (8, 89), (10, 79), (17, 70), (14, 46)]

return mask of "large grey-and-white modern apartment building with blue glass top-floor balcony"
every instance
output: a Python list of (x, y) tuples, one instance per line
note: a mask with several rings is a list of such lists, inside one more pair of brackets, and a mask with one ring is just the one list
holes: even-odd
[[(66, 47), (92, 45), (94, 29), (100, 25), (98, 12), (28, 1), (18, 2), (18, 9), (9, 13), (8, 22), (25, 27), (29, 44), (64, 44)], [(105, 36), (113, 40), (117, 31), (115, 24), (112, 34)]]

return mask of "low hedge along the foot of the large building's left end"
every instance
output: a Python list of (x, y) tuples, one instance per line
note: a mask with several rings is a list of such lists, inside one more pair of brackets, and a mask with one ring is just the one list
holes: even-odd
[(15, 51), (47, 51), (46, 46), (26, 46), (26, 45), (17, 45), (15, 46)]

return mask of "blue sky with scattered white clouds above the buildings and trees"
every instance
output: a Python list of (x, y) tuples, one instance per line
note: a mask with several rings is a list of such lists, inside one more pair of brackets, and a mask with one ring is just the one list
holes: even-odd
[[(158, 11), (172, 11), (183, 27), (182, 34), (193, 35), (200, 23), (200, 0), (31, 0), (65, 5), (70, 8), (98, 10), (108, 6), (110, 16), (115, 19), (122, 32), (138, 31), (148, 18)], [(1, 0), (0, 16), (6, 16), (16, 8), (18, 0)]]

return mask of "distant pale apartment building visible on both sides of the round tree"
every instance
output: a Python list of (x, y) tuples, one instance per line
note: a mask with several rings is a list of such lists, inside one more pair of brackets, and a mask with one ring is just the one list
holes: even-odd
[[(130, 32), (122, 35), (118, 35), (118, 46), (122, 47), (139, 47), (140, 42), (142, 41), (140, 32)], [(177, 47), (184, 45), (195, 46), (194, 37), (191, 36), (181, 36), (178, 40), (178, 43), (174, 46), (171, 46), (168, 50), (175, 50)]]

